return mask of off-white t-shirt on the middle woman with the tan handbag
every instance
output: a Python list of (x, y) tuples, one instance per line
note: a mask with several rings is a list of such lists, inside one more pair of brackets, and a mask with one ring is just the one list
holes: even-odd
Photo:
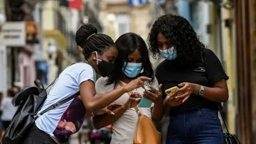
[[(107, 93), (112, 90), (114, 90), (114, 84), (106, 85), (107, 78), (99, 78), (98, 81), (95, 84), (95, 89), (97, 93)], [(124, 85), (126, 83), (122, 82)], [(149, 85), (146, 83), (146, 85)], [(158, 82), (157, 79), (154, 78), (153, 83), (151, 84), (153, 87), (158, 88)], [(120, 85), (117, 85), (116, 88), (121, 87)], [(146, 88), (148, 86), (145, 86)], [(138, 92), (143, 94), (144, 89), (142, 87), (139, 87), (137, 90), (134, 90), (134, 92)], [(123, 94), (119, 99), (117, 99), (115, 102), (118, 103), (125, 103), (129, 99), (129, 95), (127, 93)], [(154, 103), (152, 103), (151, 107), (154, 106)], [(139, 108), (141, 114), (148, 116), (151, 118), (151, 108)], [(135, 111), (134, 108), (131, 108), (117, 119), (117, 121), (113, 124), (113, 134), (111, 137), (111, 144), (119, 144), (119, 143), (125, 143), (125, 144), (132, 144), (135, 136), (135, 131), (137, 128), (137, 122), (138, 122), (138, 114)]]

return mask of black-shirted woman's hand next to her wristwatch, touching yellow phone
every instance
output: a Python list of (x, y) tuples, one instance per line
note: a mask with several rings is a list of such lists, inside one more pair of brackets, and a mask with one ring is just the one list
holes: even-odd
[(181, 89), (177, 90), (176, 99), (183, 99), (182, 102), (185, 102), (189, 96), (194, 92), (195, 86), (193, 83), (181, 83), (178, 86), (182, 87)]

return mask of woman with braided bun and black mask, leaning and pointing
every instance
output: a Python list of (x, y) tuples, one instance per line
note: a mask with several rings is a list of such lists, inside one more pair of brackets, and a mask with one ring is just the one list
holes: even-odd
[[(97, 34), (92, 25), (83, 25), (77, 30), (76, 43), (82, 47), (85, 60), (62, 71), (38, 113), (71, 94), (80, 91), (80, 95), (39, 116), (27, 134), (22, 136), (21, 143), (66, 143), (71, 134), (79, 131), (84, 119), (93, 115), (92, 112), (98, 111), (94, 115), (114, 114), (106, 109), (110, 103), (122, 94), (143, 86), (143, 80), (150, 80), (139, 77), (120, 89), (96, 94), (96, 73), (103, 77), (113, 73), (118, 54), (116, 45), (109, 36)], [(133, 95), (130, 103), (137, 103), (136, 98), (138, 96)]]

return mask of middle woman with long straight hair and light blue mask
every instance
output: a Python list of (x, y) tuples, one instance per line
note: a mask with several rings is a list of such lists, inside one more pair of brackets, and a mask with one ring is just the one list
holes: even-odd
[[(145, 82), (145, 88), (150, 87), (155, 93), (151, 93), (142, 87), (138, 87), (134, 92), (140, 93), (143, 97), (153, 101), (151, 107), (139, 108), (140, 112), (150, 117), (153, 121), (160, 121), (163, 116), (163, 98), (162, 93), (157, 92), (155, 89), (158, 88), (161, 90), (161, 85), (158, 87), (158, 82), (149, 60), (146, 43), (139, 35), (127, 33), (117, 39), (116, 46), (118, 57), (115, 62), (115, 73), (108, 78), (99, 78), (96, 82), (96, 92), (106, 93), (118, 89), (121, 87), (118, 84), (119, 81), (123, 85), (126, 85), (139, 76), (150, 77), (153, 80), (151, 82)], [(115, 101), (123, 103), (123, 106), (113, 111), (115, 115), (104, 114), (93, 117), (93, 123), (97, 129), (113, 124), (111, 144), (133, 143), (138, 115), (135, 109), (130, 107), (130, 102), (127, 100), (129, 100), (129, 95), (124, 93)]]

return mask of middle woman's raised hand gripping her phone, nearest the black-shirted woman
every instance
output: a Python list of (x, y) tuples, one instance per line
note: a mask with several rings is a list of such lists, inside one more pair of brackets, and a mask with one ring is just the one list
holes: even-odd
[(149, 87), (150, 87), (150, 89), (151, 89), (154, 93), (152, 93), (152, 92), (150, 92), (150, 91), (148, 91), (148, 90), (145, 90), (143, 97), (146, 98), (146, 99), (148, 99), (148, 100), (150, 100), (150, 101), (152, 101), (152, 102), (154, 102), (154, 103), (156, 103), (156, 102), (158, 102), (158, 101), (163, 102), (162, 89), (161, 89), (162, 84), (160, 84), (160, 85), (158, 86), (159, 92), (155, 89), (155, 87), (153, 87), (153, 86), (151, 86), (151, 85), (149, 85)]

